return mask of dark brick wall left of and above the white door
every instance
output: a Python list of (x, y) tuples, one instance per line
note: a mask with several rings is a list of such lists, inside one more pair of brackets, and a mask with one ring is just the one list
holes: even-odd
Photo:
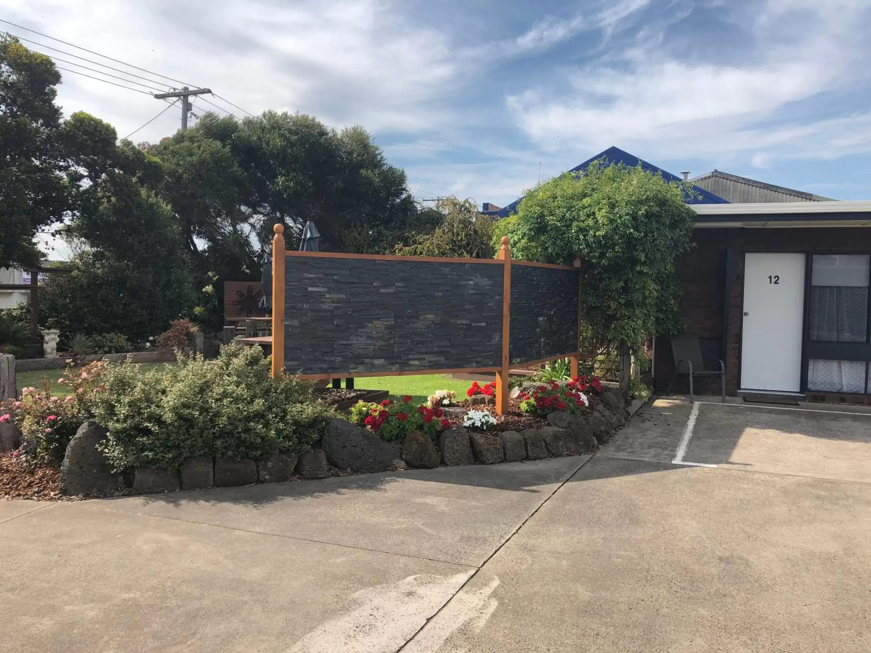
[[(745, 252), (871, 252), (871, 229), (856, 227), (781, 229), (696, 229), (694, 249), (680, 257), (677, 278), (683, 288), (681, 313), (687, 333), (696, 333), (706, 347), (706, 359), (719, 358), (726, 338), (726, 393), (738, 390), (741, 341), (741, 300)], [(726, 251), (734, 252), (729, 285), (728, 332), (723, 333), (726, 291)], [(809, 273), (810, 271), (808, 271)], [(717, 353), (717, 355), (713, 355)], [(674, 371), (672, 347), (667, 338), (656, 344), (656, 387), (665, 390)], [(699, 379), (699, 392), (719, 394), (716, 379)], [(687, 392), (685, 377), (675, 385)]]

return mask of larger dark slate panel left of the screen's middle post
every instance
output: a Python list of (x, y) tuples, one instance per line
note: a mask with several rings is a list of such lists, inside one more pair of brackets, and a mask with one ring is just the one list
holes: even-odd
[(501, 265), (288, 256), (285, 369), (498, 367), (502, 287)]

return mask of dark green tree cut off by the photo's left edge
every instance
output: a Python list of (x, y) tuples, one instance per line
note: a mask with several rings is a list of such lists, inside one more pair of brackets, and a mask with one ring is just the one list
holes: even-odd
[(58, 82), (51, 58), (0, 36), (0, 266), (36, 266), (36, 232), (66, 208)]

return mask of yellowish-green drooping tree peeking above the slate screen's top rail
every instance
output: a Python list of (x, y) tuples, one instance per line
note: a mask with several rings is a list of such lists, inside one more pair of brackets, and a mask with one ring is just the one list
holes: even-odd
[(410, 235), (410, 245), (395, 246), (397, 254), (490, 259), (498, 251), (493, 243), (493, 222), (478, 212), (474, 199), (442, 199), (436, 213), (439, 221), (432, 231)]

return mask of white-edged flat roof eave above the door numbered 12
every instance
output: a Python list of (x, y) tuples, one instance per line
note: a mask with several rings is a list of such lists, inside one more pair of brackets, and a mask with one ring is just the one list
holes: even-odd
[(693, 204), (696, 228), (871, 226), (871, 201)]

